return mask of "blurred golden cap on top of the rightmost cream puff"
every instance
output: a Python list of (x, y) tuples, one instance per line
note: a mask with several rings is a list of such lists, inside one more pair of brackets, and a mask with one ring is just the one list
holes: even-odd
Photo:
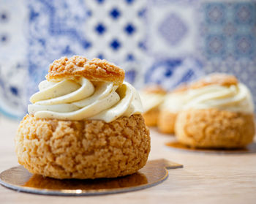
[(218, 84), (221, 86), (231, 86), (236, 85), (238, 83), (238, 80), (233, 75), (227, 75), (224, 73), (214, 73), (211, 75), (207, 75), (206, 77), (197, 80), (194, 83), (191, 83), (189, 85), (189, 88), (201, 88), (203, 86), (209, 86)]

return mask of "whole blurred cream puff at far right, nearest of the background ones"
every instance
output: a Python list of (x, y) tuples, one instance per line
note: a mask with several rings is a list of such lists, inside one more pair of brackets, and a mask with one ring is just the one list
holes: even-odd
[(249, 89), (233, 75), (214, 74), (192, 83), (176, 119), (180, 143), (197, 148), (241, 148), (255, 135)]

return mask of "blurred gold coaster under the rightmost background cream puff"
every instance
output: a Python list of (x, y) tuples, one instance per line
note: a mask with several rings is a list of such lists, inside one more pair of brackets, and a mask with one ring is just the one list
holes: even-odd
[(211, 154), (249, 154), (256, 153), (256, 143), (252, 143), (246, 148), (192, 148), (178, 141), (165, 143), (165, 146), (178, 151), (189, 151), (197, 153), (211, 153)]

